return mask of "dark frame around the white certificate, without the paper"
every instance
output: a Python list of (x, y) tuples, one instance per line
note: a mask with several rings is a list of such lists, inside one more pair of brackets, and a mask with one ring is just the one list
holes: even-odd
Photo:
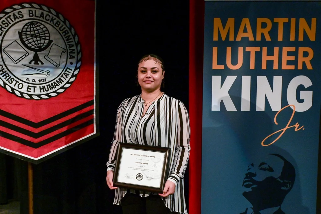
[[(142, 183), (142, 185), (137, 185), (137, 184), (123, 183), (118, 181), (120, 163), (121, 161), (126, 161), (126, 157), (123, 157), (123, 154), (122, 154), (124, 148), (164, 153), (164, 160), (163, 160), (164, 162), (162, 167), (162, 173), (160, 176), (160, 188), (146, 186), (146, 185), (143, 185), (144, 183)], [(115, 172), (114, 172), (114, 178), (113, 178), (113, 183), (114, 183), (113, 186), (134, 189), (134, 190), (141, 190), (141, 191), (152, 192), (152, 193), (162, 193), (164, 189), (164, 185), (167, 180), (168, 173), (169, 173), (168, 172), (169, 154), (170, 154), (170, 148), (168, 147), (148, 146), (148, 145), (120, 142), (118, 145), (117, 159), (116, 159)]]

